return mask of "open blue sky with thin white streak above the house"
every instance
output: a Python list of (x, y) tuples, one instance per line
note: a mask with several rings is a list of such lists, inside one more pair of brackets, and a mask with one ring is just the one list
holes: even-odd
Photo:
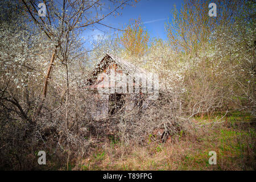
[[(120, 9), (118, 11), (121, 15), (116, 18), (109, 16), (104, 19), (102, 23), (122, 29), (122, 26), (125, 27), (125, 24), (128, 24), (131, 18), (137, 19), (141, 16), (141, 20), (150, 38), (156, 37), (166, 40), (167, 34), (164, 30), (164, 23), (167, 22), (168, 18), (172, 18), (171, 10), (174, 4), (179, 10), (182, 2), (182, 0), (141, 0), (135, 7), (126, 6), (123, 10)], [(114, 30), (109, 30), (107, 27), (97, 25), (97, 28), (94, 28), (94, 30), (92, 30), (92, 28), (85, 30), (82, 36), (89, 39), (97, 39), (97, 35), (104, 35), (105, 32), (114, 35)], [(121, 32), (119, 32), (119, 34), (121, 34)]]

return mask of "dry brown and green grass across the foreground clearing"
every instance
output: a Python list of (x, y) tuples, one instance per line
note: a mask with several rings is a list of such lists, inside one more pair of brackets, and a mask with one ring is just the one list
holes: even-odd
[[(195, 123), (209, 123), (208, 117), (194, 119)], [(145, 146), (123, 146), (112, 137), (75, 169), (255, 170), (255, 125), (251, 123), (250, 115), (234, 112), (222, 123), (205, 125), (189, 134), (181, 131), (179, 137), (164, 144), (149, 137)], [(216, 151), (216, 165), (208, 163), (209, 151)]]

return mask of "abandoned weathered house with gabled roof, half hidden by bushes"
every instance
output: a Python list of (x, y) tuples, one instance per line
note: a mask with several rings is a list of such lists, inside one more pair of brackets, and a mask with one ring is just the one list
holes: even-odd
[(93, 68), (86, 89), (93, 92), (90, 114), (97, 120), (146, 109), (158, 92), (158, 75), (106, 54)]

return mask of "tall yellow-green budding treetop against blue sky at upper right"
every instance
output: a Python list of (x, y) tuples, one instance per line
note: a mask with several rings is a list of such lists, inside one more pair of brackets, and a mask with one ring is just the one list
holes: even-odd
[(196, 55), (201, 47), (207, 46), (208, 37), (214, 28), (221, 24), (232, 24), (240, 13), (242, 1), (214, 1), (217, 4), (217, 16), (208, 15), (211, 1), (185, 0), (180, 10), (172, 10), (173, 18), (166, 23), (168, 39), (176, 51), (187, 55), (187, 60)]

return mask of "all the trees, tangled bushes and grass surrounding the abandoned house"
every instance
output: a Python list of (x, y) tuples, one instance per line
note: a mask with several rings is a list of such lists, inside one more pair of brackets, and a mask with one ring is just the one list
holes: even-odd
[[(0, 2), (0, 169), (255, 170), (255, 2), (217, 1), (210, 19), (208, 1), (184, 1), (168, 41), (138, 19), (84, 47), (85, 28), (135, 2), (48, 1), (45, 19), (39, 1)], [(106, 52), (158, 73), (158, 100), (92, 118), (88, 65)]]

